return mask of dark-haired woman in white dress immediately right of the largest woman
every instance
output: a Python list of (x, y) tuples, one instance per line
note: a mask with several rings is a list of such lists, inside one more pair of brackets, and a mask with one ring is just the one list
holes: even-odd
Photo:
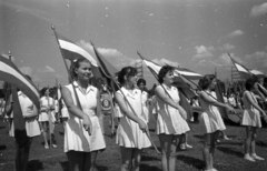
[(135, 88), (137, 70), (132, 67), (122, 68), (118, 81), (121, 88), (115, 93), (115, 98), (122, 117), (117, 129), (116, 143), (121, 150), (121, 171), (139, 171), (141, 150), (151, 143), (146, 134), (141, 91)]

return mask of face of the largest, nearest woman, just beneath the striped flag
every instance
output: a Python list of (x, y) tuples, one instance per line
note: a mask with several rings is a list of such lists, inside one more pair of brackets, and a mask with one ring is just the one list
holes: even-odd
[(75, 72), (78, 79), (89, 80), (91, 78), (91, 64), (88, 61), (81, 61)]

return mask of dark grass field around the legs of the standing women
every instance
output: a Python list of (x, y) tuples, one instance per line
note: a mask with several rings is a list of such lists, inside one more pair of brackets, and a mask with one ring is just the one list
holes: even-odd
[[(109, 134), (108, 118), (105, 118), (106, 132)], [(149, 123), (152, 141), (159, 148), (158, 137), (154, 133), (155, 122)], [(177, 170), (197, 171), (204, 168), (201, 155), (201, 135), (198, 133), (198, 123), (191, 123), (196, 130), (188, 135), (188, 142), (194, 148), (186, 151), (177, 151)], [(258, 131), (257, 153), (267, 160), (267, 129)], [(215, 168), (219, 171), (267, 171), (267, 161), (247, 162), (243, 159), (243, 142), (245, 129), (239, 125), (227, 124), (226, 133), (231, 141), (224, 141), (218, 144), (215, 158)], [(62, 124), (56, 127), (57, 149), (46, 150), (42, 137), (33, 139), (31, 145), (28, 171), (68, 171), (68, 161), (63, 153), (63, 128)], [(115, 144), (115, 139), (106, 135), (107, 149), (98, 155), (97, 169), (99, 171), (119, 171), (120, 152)], [(6, 122), (0, 120), (0, 171), (12, 171), (14, 160), (14, 142), (8, 135)], [(144, 151), (140, 171), (160, 171), (160, 155), (150, 148)]]

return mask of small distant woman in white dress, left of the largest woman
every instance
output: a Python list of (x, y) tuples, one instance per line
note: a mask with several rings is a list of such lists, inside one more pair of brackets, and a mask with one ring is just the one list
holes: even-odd
[[(48, 134), (51, 132), (51, 141), (50, 143), (52, 143), (52, 148), (57, 148), (56, 144), (56, 140), (55, 140), (55, 122), (56, 122), (56, 118), (55, 118), (55, 102), (53, 99), (51, 97), (49, 97), (49, 88), (42, 88), (41, 90), (41, 99), (40, 99), (40, 113), (39, 113), (39, 119), (38, 121), (41, 123), (41, 128), (42, 128), (42, 135), (43, 135), (43, 140), (44, 140), (44, 149), (49, 149), (48, 145)], [(49, 119), (51, 119), (51, 123), (49, 123)], [(49, 124), (51, 124), (51, 128), (49, 127)], [(49, 130), (51, 129), (51, 130)]]

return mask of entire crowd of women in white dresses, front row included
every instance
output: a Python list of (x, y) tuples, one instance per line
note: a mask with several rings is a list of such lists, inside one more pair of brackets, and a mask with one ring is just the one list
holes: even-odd
[[(71, 171), (93, 171), (98, 153), (108, 148), (105, 134), (110, 133), (120, 147), (121, 171), (138, 171), (142, 150), (151, 145), (148, 123), (154, 120), (164, 171), (175, 171), (177, 149), (194, 148), (187, 142), (190, 122), (199, 122), (204, 135), (205, 170), (217, 171), (214, 157), (218, 137), (222, 133), (222, 138), (229, 140), (219, 108), (234, 114), (243, 109), (240, 124), (245, 125), (247, 132), (244, 159), (251, 162), (265, 160), (256, 154), (255, 141), (257, 129), (261, 127), (260, 117), (267, 120), (267, 79), (248, 79), (244, 90), (229, 89), (222, 94), (224, 102), (219, 102), (215, 93), (214, 74), (200, 79), (195, 95), (187, 98), (174, 86), (174, 68), (169, 66), (161, 68), (159, 82), (151, 90), (147, 89), (145, 79), (138, 80), (137, 70), (132, 67), (122, 68), (113, 84), (105, 79), (91, 79), (91, 64), (85, 59), (73, 62), (70, 70), (73, 81), (61, 89), (61, 97), (58, 97), (57, 89), (41, 89), (40, 111), (23, 92), (18, 92), (29, 137), (26, 149), (17, 150), (18, 170), (26, 170), (32, 138), (42, 134), (44, 149), (57, 148), (57, 143), (65, 144), (63, 151)], [(6, 113), (10, 137), (13, 137), (13, 102), (10, 97), (7, 102), (1, 101), (1, 113)], [(181, 102), (184, 99), (194, 110), (186, 110), (187, 107)], [(105, 131), (106, 115), (110, 119), (110, 132)], [(63, 123), (65, 142), (56, 141), (55, 128), (58, 122)], [(20, 158), (20, 152), (23, 158)]]

